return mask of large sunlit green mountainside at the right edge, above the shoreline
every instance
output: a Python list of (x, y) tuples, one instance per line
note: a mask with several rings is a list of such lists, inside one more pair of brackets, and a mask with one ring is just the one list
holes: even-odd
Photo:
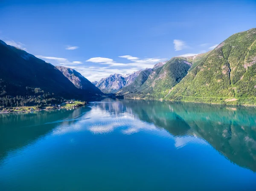
[(233, 34), (173, 88), (167, 100), (256, 104), (256, 29)]

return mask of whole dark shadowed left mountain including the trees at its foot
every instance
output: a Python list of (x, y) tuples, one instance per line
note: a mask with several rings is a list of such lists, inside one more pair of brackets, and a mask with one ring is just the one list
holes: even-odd
[[(0, 105), (44, 100), (58, 97), (84, 99), (95, 96), (76, 88), (61, 71), (24, 50), (0, 40)], [(16, 97), (16, 98), (15, 98)]]

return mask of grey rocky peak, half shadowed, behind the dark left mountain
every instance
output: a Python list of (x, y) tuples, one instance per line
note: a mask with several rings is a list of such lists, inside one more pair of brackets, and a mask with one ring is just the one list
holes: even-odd
[(76, 70), (63, 66), (56, 66), (56, 68), (58, 68), (58, 70), (61, 71), (62, 74), (64, 74), (64, 76), (67, 77), (67, 79), (76, 86), (76, 88), (86, 90), (86, 92), (89, 94), (102, 94), (99, 88), (93, 85)]

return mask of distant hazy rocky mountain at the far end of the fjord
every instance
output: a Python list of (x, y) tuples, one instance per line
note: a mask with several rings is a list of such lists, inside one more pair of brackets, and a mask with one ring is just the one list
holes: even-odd
[(112, 94), (124, 87), (125, 84), (125, 77), (123, 77), (121, 74), (112, 74), (109, 77), (99, 80), (96, 87), (99, 88), (103, 93)]

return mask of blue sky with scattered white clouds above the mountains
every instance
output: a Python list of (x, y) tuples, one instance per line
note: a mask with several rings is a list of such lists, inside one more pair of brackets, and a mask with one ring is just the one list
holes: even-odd
[(255, 0), (0, 0), (0, 39), (87, 79), (214, 48), (256, 27)]

